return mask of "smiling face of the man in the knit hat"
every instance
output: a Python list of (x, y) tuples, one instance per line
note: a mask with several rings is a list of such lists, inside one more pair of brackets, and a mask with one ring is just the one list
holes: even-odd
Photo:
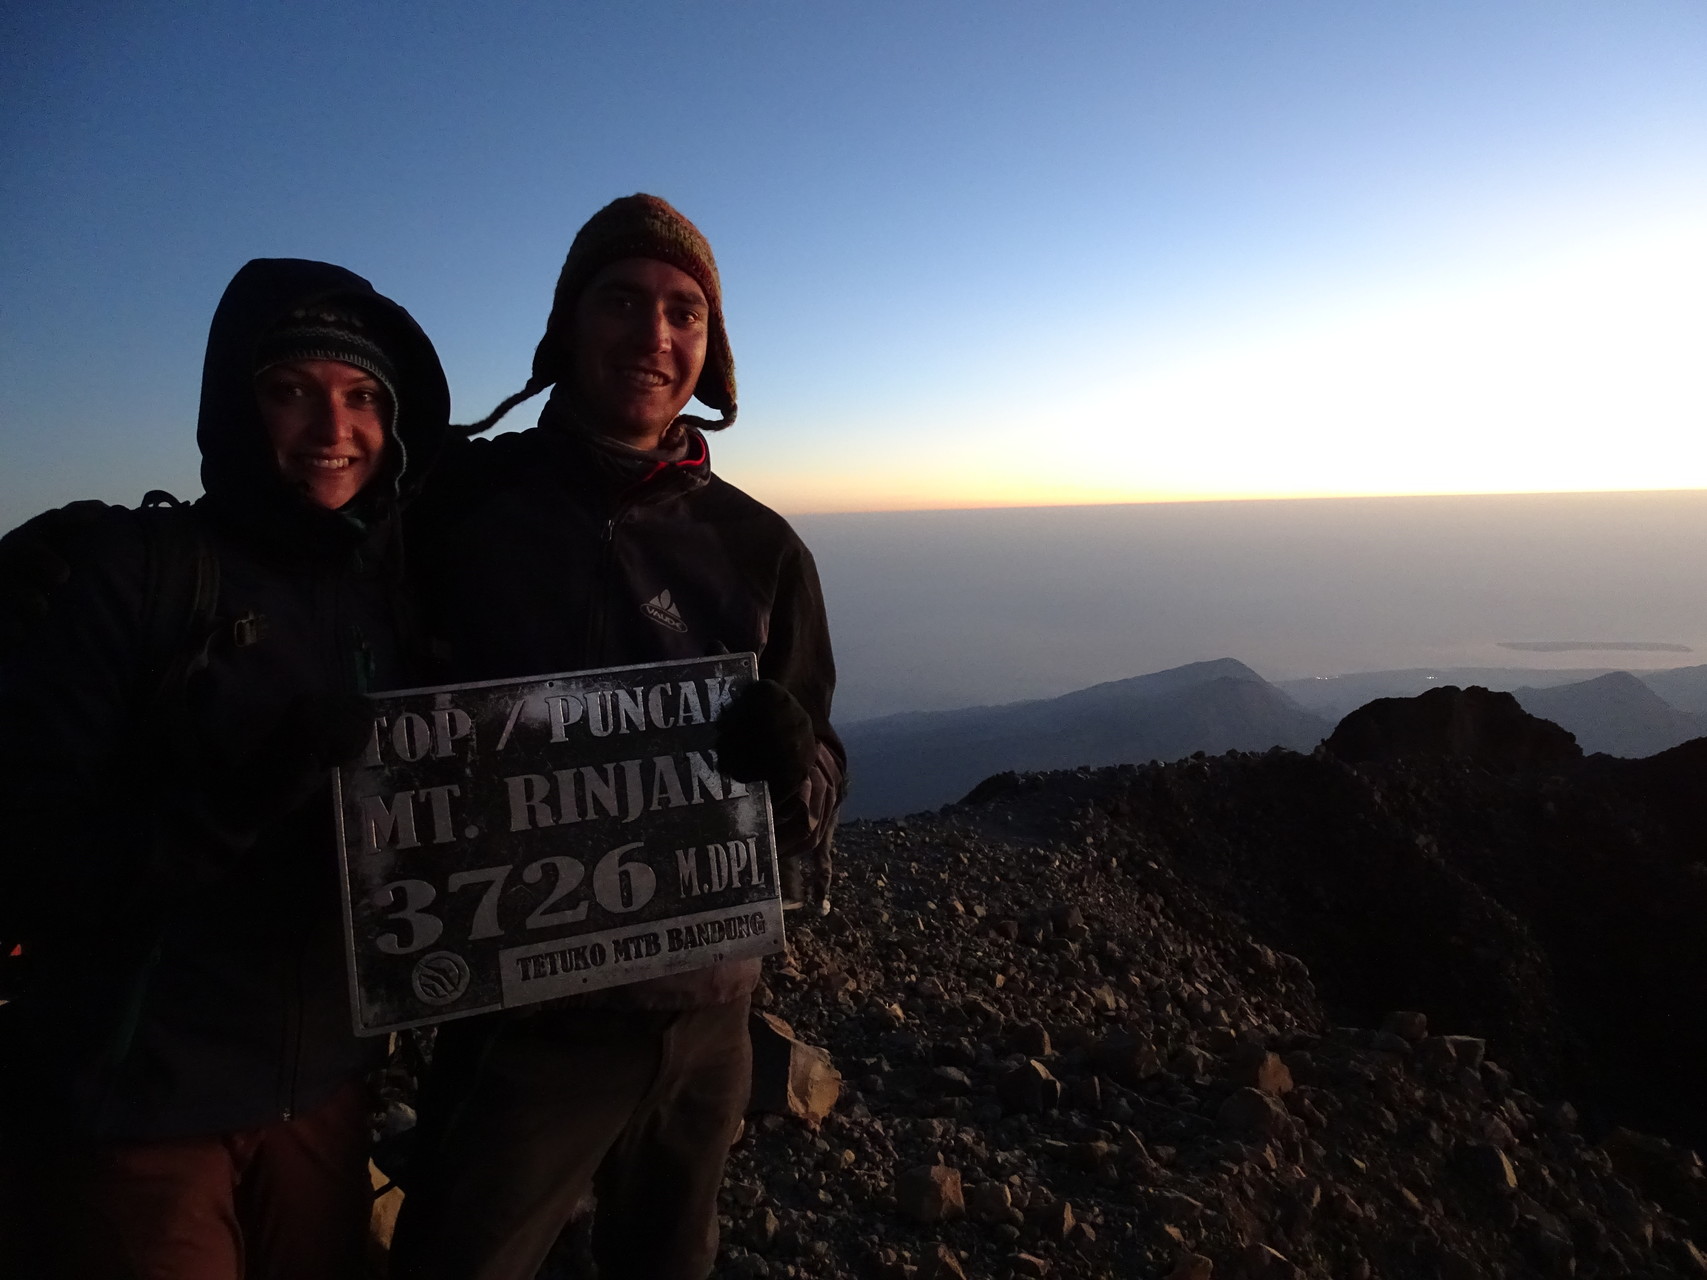
[(655, 449), (693, 398), (708, 317), (705, 292), (669, 263), (623, 258), (594, 275), (570, 328), (577, 403), (589, 423)]

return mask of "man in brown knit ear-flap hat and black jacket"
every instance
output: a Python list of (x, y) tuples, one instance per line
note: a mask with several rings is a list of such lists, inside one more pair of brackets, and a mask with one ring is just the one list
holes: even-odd
[[(715, 476), (736, 418), (722, 290), (698, 229), (626, 196), (575, 236), (516, 396), (539, 425), (446, 459), (410, 536), (446, 681), (758, 654), (719, 766), (770, 783), (784, 884), (823, 899), (843, 753), (811, 553)], [(688, 399), (717, 420), (688, 416)], [(802, 887), (804, 886), (804, 887)], [(592, 1191), (606, 1280), (703, 1280), (751, 1077), (758, 961), (446, 1024), (422, 1099), (398, 1280), (527, 1280)]]

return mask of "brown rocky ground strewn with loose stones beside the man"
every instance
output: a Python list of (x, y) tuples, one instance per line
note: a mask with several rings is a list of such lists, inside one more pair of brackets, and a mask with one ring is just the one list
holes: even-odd
[[(1557, 922), (1430, 848), (1511, 780), (1424, 773), (1231, 754), (845, 826), (761, 990), (840, 1097), (749, 1121), (719, 1275), (1707, 1275), (1693, 1152), (1550, 1092)], [(1429, 998), (1347, 1024), (1383, 990)]]

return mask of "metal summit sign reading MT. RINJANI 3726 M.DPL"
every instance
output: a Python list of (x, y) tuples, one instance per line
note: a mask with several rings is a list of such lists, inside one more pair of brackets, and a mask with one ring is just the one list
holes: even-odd
[(782, 949), (770, 800), (717, 770), (751, 654), (377, 695), (338, 771), (358, 1034)]

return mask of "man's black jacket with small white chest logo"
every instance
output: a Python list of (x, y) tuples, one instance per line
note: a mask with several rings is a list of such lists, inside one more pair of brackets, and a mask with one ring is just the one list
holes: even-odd
[[(845, 754), (818, 568), (787, 521), (712, 473), (703, 437), (635, 480), (553, 401), (531, 430), (452, 445), (408, 529), (446, 683), (758, 654), (818, 736), (807, 780), (772, 797), (778, 853), (828, 853)], [(575, 1000), (696, 1007), (756, 976), (732, 961)]]

